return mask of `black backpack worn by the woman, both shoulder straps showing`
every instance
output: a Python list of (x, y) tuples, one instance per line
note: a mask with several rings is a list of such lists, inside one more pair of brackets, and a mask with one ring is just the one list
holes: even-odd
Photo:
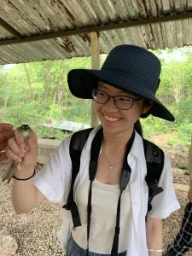
[[(79, 172), (80, 156), (82, 149), (84, 148), (84, 143), (89, 137), (90, 131), (92, 131), (92, 129), (93, 128), (89, 128), (73, 133), (69, 146), (69, 154), (72, 160), (72, 181), (67, 198), (67, 204), (63, 206), (63, 208), (71, 211), (74, 227), (80, 226), (81, 222), (79, 218), (78, 207), (73, 200), (73, 184)], [(144, 138), (143, 146), (147, 165), (147, 175), (145, 177), (145, 181), (148, 184), (148, 211), (150, 211), (152, 208), (151, 201), (154, 195), (158, 195), (163, 191), (163, 189), (158, 186), (158, 182), (164, 166), (164, 152), (154, 143), (151, 143)]]

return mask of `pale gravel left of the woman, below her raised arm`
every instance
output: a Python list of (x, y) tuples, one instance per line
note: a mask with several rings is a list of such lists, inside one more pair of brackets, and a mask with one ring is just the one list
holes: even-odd
[[(1, 163), (1, 173), (7, 163)], [(40, 165), (38, 166), (38, 168)], [(63, 255), (56, 232), (61, 226), (60, 205), (45, 201), (27, 214), (16, 215), (10, 198), (10, 183), (0, 180), (0, 230), (3, 227), (18, 243), (16, 256)]]

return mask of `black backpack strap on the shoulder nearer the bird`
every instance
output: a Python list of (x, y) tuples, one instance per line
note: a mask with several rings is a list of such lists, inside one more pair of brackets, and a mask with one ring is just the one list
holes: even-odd
[(67, 198), (67, 204), (64, 205), (63, 208), (71, 211), (74, 227), (79, 227), (81, 225), (81, 221), (79, 217), (78, 207), (73, 200), (73, 185), (74, 185), (75, 178), (79, 173), (81, 151), (83, 150), (84, 143), (86, 142), (87, 138), (90, 135), (90, 131), (92, 130), (93, 128), (89, 128), (89, 129), (84, 129), (82, 131), (77, 131), (73, 133), (73, 136), (71, 138), (71, 142), (69, 145), (69, 154), (72, 161), (72, 181), (71, 181), (71, 188)]

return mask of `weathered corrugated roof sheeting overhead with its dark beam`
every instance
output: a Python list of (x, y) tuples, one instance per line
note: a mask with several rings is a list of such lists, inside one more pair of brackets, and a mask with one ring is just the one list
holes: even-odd
[(0, 64), (88, 56), (90, 31), (100, 32), (101, 53), (183, 47), (191, 18), (192, 0), (2, 0)]

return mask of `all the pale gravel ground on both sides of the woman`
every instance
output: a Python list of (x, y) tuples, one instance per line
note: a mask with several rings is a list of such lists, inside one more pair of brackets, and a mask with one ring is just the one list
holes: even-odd
[[(1, 163), (0, 173), (3, 174), (7, 163)], [(37, 169), (41, 166), (38, 165)], [(188, 176), (173, 168), (173, 182), (188, 184)], [(15, 237), (18, 243), (16, 256), (59, 256), (63, 255), (61, 247), (56, 238), (56, 232), (61, 225), (60, 206), (44, 204), (37, 207), (28, 214), (16, 215), (10, 201), (10, 184), (2, 183), (0, 180), (0, 230), (3, 227)], [(187, 203), (187, 192), (182, 189), (176, 190), (177, 199), (181, 209), (173, 212), (169, 218), (163, 221), (164, 225), (164, 247), (172, 241), (176, 235), (183, 216), (183, 208)], [(192, 250), (185, 254), (192, 255)]]

